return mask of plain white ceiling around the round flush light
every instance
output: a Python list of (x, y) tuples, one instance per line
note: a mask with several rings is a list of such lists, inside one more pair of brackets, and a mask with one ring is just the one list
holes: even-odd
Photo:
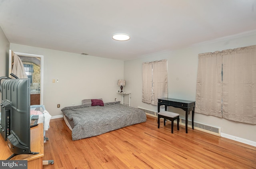
[(256, 0), (0, 0), (0, 26), (10, 43), (130, 60), (256, 34)]

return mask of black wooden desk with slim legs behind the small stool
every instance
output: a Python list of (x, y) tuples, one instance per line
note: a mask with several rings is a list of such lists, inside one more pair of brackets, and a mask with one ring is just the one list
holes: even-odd
[(175, 98), (158, 98), (158, 112), (160, 112), (160, 106), (162, 105), (164, 105), (165, 111), (167, 111), (167, 106), (181, 108), (182, 110), (186, 111), (186, 133), (188, 133), (188, 114), (190, 111), (192, 111), (192, 129), (194, 129), (194, 112), (196, 102)]

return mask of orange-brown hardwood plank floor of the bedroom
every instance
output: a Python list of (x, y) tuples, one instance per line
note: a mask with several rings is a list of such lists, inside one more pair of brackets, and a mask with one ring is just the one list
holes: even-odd
[(157, 118), (112, 132), (72, 141), (62, 118), (52, 119), (46, 132), (44, 169), (252, 169), (256, 147), (199, 130), (164, 126)]

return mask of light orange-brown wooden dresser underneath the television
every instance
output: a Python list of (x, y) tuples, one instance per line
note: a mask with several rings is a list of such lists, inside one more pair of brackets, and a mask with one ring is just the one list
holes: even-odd
[[(43, 134), (43, 124), (40, 123), (38, 126), (30, 129), (30, 150), (33, 152), (39, 152), (39, 154), (22, 154), (13, 157), (11, 160), (28, 160), (28, 169), (42, 169), (43, 168), (43, 157), (44, 157), (44, 134)], [(0, 137), (0, 159), (6, 160), (12, 155), (9, 147), (7, 146), (7, 141), (4, 141)]]

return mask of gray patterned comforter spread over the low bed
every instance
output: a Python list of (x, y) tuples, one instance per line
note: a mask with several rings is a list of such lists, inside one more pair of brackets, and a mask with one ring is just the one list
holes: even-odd
[(61, 110), (74, 121), (72, 140), (79, 140), (110, 132), (119, 128), (146, 122), (146, 114), (138, 108), (120, 102), (104, 103), (104, 106), (72, 106)]

